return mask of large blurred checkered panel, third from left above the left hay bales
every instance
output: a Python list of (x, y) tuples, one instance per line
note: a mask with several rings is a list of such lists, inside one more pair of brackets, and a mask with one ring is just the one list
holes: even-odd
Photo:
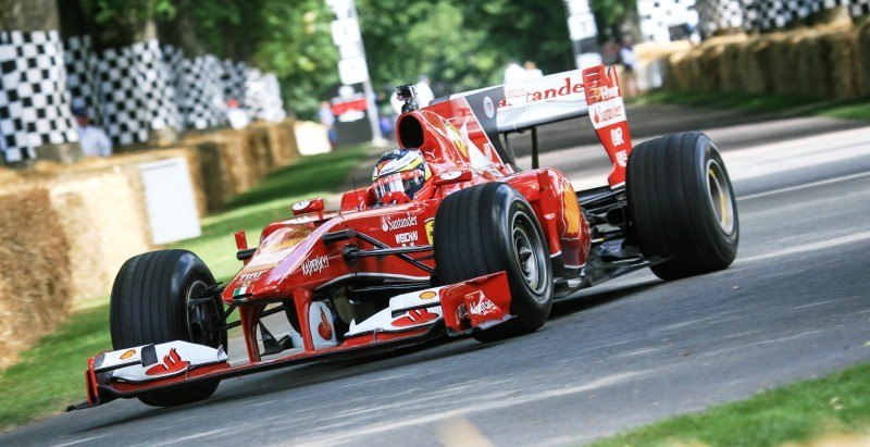
[(145, 142), (152, 129), (181, 126), (157, 40), (105, 50), (97, 69), (104, 126), (115, 145)]

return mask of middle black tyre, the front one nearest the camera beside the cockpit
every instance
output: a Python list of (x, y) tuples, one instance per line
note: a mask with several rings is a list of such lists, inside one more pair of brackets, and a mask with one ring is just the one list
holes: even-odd
[(435, 264), (440, 284), (506, 272), (512, 319), (475, 331), (480, 342), (534, 332), (552, 308), (549, 248), (534, 210), (504, 183), (475, 185), (447, 196), (435, 215)]

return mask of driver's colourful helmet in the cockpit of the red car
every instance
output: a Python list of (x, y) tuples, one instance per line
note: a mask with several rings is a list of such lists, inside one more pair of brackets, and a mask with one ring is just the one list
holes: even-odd
[(374, 195), (380, 201), (389, 193), (402, 191), (413, 199), (432, 173), (417, 149), (396, 149), (381, 156), (372, 172)]

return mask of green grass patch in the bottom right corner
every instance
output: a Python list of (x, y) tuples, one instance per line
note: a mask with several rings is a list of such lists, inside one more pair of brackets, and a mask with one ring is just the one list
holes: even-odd
[(870, 363), (599, 440), (595, 447), (779, 446), (870, 431)]

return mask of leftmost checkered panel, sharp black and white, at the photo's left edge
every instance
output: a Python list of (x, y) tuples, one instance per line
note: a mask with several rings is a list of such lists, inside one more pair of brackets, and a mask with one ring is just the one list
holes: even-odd
[(0, 149), (8, 163), (78, 140), (57, 32), (0, 33)]

